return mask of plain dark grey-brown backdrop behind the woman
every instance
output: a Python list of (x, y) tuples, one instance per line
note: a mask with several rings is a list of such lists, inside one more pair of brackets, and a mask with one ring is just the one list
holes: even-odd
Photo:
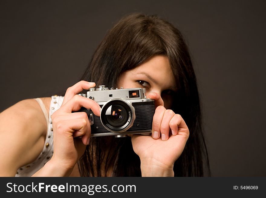
[(265, 10), (239, 0), (1, 1), (0, 111), (64, 93), (122, 16), (158, 14), (187, 40), (212, 176), (266, 176)]

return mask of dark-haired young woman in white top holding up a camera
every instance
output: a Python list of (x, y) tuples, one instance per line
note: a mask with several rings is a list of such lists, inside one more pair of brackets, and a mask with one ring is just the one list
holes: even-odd
[[(90, 137), (77, 95), (91, 87), (146, 88), (152, 135)], [(181, 33), (156, 16), (121, 19), (65, 96), (28, 99), (0, 114), (2, 176), (203, 176), (209, 173), (196, 77)], [(82, 136), (82, 138), (75, 138)]]

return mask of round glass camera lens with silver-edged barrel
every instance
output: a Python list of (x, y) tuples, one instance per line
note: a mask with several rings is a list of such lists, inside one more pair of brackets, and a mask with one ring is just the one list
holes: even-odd
[(123, 99), (112, 99), (101, 111), (103, 126), (113, 132), (123, 132), (130, 128), (135, 119), (134, 107)]

